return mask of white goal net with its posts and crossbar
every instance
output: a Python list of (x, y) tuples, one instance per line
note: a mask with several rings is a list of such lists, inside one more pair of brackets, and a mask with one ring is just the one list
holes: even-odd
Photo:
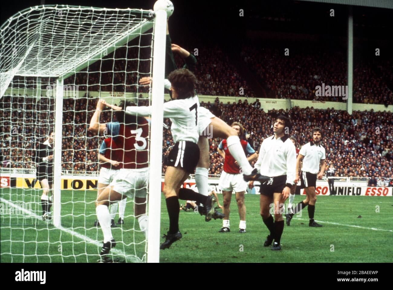
[[(1, 26), (2, 262), (99, 259), (98, 153), (112, 137), (107, 130), (97, 135), (88, 129), (99, 98), (152, 105), (150, 147), (143, 149), (149, 151), (150, 176), (161, 176), (165, 29), (164, 11), (68, 5), (31, 7)], [(138, 84), (153, 75), (153, 87)], [(116, 121), (109, 109), (99, 118), (100, 124)], [(51, 217), (45, 218), (35, 156), (52, 130)], [(112, 228), (114, 259), (158, 261), (161, 179), (150, 177), (146, 187), (148, 236), (136, 219), (135, 199), (116, 204), (116, 212), (110, 209), (115, 224), (120, 217), (124, 221)]]

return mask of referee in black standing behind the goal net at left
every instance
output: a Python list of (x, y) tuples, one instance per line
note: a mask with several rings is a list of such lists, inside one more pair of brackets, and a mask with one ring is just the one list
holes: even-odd
[(49, 192), (53, 187), (53, 139), (55, 134), (50, 129), (48, 139), (44, 143), (39, 143), (38, 148), (34, 151), (34, 161), (37, 168), (37, 179), (40, 181), (42, 188), (41, 206), (42, 219), (51, 219), (50, 208), (53, 197), (49, 197)]

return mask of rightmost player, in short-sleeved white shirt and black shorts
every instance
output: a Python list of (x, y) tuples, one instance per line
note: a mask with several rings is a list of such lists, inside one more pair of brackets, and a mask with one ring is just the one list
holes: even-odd
[[(298, 159), (296, 160), (296, 179), (295, 181), (299, 181), (299, 164), (301, 159), (303, 159), (303, 164), (301, 167), (300, 173), (300, 181), (301, 188), (305, 188), (306, 191), (306, 199), (300, 202), (295, 210), (294, 214), (300, 212), (307, 205), (309, 212), (309, 226), (312, 227), (321, 227), (321, 224), (318, 224), (314, 221), (314, 212), (315, 212), (315, 202), (317, 200), (317, 196), (315, 193), (316, 181), (318, 179), (322, 179), (323, 173), (325, 171), (325, 148), (323, 148), (320, 144), (321, 139), (323, 138), (323, 131), (321, 128), (314, 128), (312, 130), (312, 141), (303, 145), (303, 147), (299, 151)], [(320, 169), (321, 165), (321, 169)], [(319, 173), (318, 173), (319, 172)]]

